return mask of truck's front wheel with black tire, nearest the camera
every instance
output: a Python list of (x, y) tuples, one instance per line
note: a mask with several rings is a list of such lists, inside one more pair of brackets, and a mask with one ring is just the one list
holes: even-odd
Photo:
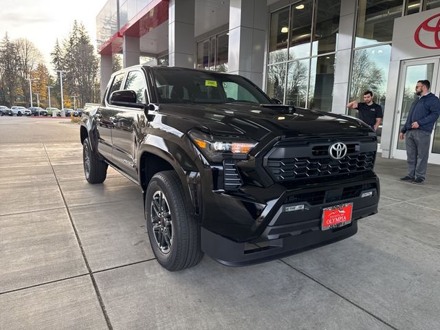
[[(157, 194), (160, 195), (160, 192), (164, 195), (168, 210), (163, 203), (159, 204), (164, 207), (159, 209), (162, 211), (162, 216), (158, 217), (155, 212), (157, 204), (154, 204), (156, 206), (154, 208), (153, 199), (158, 196)], [(156, 173), (151, 178), (145, 195), (146, 229), (157, 261), (170, 272), (195, 266), (203, 258), (203, 252), (200, 249), (200, 225), (186, 208), (187, 204), (184, 188), (174, 170)], [(153, 222), (156, 223), (155, 230)], [(170, 226), (167, 223), (170, 223)], [(158, 225), (162, 226), (162, 236), (164, 236), (162, 242), (168, 246), (168, 250), (166, 246), (159, 243), (161, 228), (158, 229)], [(169, 245), (165, 237), (168, 237)]]

